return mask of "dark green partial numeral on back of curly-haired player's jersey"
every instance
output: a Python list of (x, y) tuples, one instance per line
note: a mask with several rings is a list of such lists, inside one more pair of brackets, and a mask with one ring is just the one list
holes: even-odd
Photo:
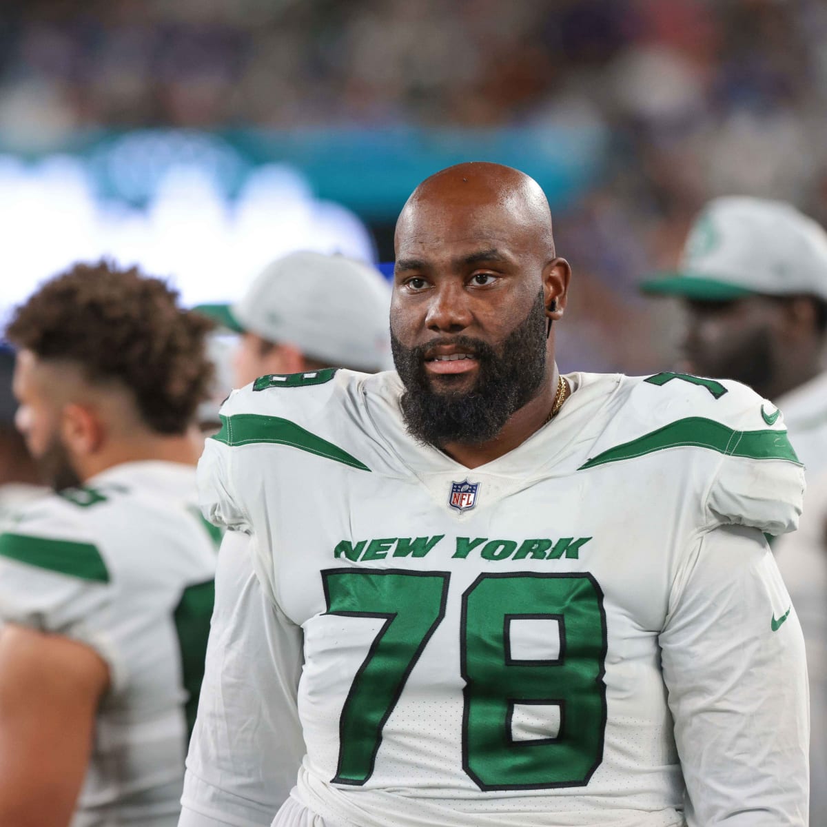
[(209, 624), (215, 603), (215, 581), (208, 580), (187, 586), (175, 606), (173, 620), (181, 656), (181, 682), (187, 693), (184, 715), (187, 719), (187, 743), (193, 734), (198, 696), (204, 676)]

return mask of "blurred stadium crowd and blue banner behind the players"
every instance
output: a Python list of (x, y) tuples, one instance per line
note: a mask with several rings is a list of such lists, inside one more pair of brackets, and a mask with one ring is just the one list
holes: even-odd
[[(575, 269), (562, 366), (640, 373), (662, 365), (674, 326), (636, 284), (675, 265), (706, 198), (770, 195), (827, 219), (825, 42), (818, 0), (10, 0), (0, 191), (45, 169), (98, 210), (155, 208), (163, 224), (166, 205), (174, 230), (145, 239), (144, 263), (179, 278), (198, 270), (195, 254), (158, 250), (211, 234), (188, 235), (181, 213), (214, 225), (223, 209), (238, 224), (238, 199), (253, 198), (260, 221), (209, 256), (238, 284), (295, 244), (295, 218), (288, 241), (278, 230), (285, 186), (291, 203), (297, 190), (335, 202), (328, 224), (347, 212), (314, 246), (390, 261), (395, 215), (419, 179), (469, 157), (504, 161), (547, 189)], [(268, 198), (262, 178), (282, 189)], [(245, 259), (237, 251), (268, 222), (270, 248)], [(307, 224), (298, 246), (314, 240)], [(91, 234), (88, 255), (106, 236)], [(106, 238), (118, 258), (139, 247)], [(53, 249), (41, 266), (83, 252), (60, 262)], [(212, 286), (190, 296), (184, 284), (185, 298), (235, 298), (198, 265)], [(624, 336), (630, 327), (638, 335)]]

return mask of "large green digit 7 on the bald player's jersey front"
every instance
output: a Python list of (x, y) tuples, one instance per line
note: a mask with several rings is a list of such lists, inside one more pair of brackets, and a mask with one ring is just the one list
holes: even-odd
[(322, 572), (327, 614), (385, 619), (342, 707), (332, 783), (359, 786), (373, 774), (382, 729), (445, 617), (450, 577), (447, 571), (399, 569)]

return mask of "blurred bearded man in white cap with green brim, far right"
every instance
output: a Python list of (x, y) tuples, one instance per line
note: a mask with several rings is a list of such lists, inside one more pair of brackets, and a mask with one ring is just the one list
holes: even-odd
[[(752, 385), (782, 409), (808, 491), (801, 529), (773, 544), (810, 675), (810, 824), (827, 825), (827, 233), (788, 203), (715, 198), (680, 270), (643, 291), (684, 300), (685, 370)], [(762, 417), (777, 418), (772, 406)]]

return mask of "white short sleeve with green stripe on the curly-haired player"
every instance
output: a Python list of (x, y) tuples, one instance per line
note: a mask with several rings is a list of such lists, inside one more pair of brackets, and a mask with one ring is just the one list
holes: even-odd
[(112, 634), (110, 571), (77, 506), (50, 496), (0, 534), (0, 619), (72, 638), (126, 680)]

